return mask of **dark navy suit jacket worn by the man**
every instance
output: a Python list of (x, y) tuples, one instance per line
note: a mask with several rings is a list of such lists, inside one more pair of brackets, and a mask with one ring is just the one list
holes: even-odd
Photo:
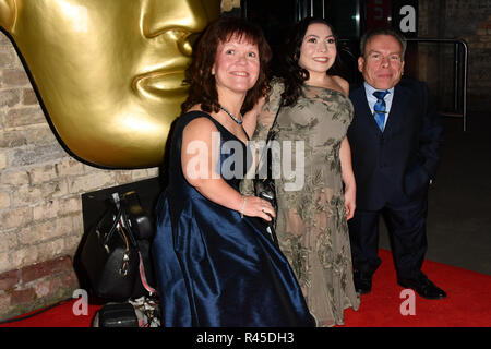
[(357, 208), (376, 210), (426, 195), (439, 163), (442, 127), (424, 83), (403, 79), (384, 132), (370, 111), (364, 86), (349, 94), (355, 117), (348, 129), (357, 182)]

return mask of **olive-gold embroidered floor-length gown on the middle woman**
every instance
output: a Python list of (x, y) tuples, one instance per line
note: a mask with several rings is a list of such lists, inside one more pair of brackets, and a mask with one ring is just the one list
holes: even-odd
[[(278, 109), (284, 85), (275, 80), (272, 87), (270, 101), (258, 117), (252, 146), (266, 140)], [(337, 91), (304, 85), (302, 93), (297, 104), (282, 107), (274, 125), (280, 149), (274, 158), (282, 160), (282, 174), (274, 177), (276, 233), (318, 326), (342, 325), (344, 310), (358, 310), (360, 304), (352, 281), (339, 159), (354, 109)], [(253, 193), (252, 180), (241, 182), (241, 192)]]

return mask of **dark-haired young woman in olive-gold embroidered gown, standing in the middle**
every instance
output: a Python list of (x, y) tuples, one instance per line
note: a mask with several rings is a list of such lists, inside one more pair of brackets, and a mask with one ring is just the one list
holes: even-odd
[[(330, 74), (337, 50), (332, 27), (306, 19), (289, 37), (283, 76), (256, 119), (251, 145), (273, 125), (280, 164), (274, 176), (279, 246), (302, 287), (318, 326), (344, 324), (344, 310), (358, 310), (347, 219), (355, 212), (356, 184), (346, 131), (352, 119), (348, 83)], [(249, 173), (250, 174), (250, 173)], [(253, 193), (248, 174), (243, 194)]]

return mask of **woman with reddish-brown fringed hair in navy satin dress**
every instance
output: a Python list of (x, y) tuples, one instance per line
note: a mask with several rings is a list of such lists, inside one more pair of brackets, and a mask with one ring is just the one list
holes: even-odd
[[(268, 92), (271, 50), (256, 26), (212, 23), (188, 70), (172, 134), (169, 182), (153, 244), (164, 326), (314, 326), (297, 279), (265, 232), (271, 204), (242, 196), (241, 112)], [(248, 134), (249, 132), (249, 134)]]

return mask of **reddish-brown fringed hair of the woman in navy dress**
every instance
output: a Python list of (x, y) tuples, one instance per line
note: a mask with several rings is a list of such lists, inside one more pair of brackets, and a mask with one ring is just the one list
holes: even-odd
[(190, 85), (188, 99), (182, 104), (182, 112), (201, 104), (204, 111), (219, 110), (218, 93), (212, 68), (218, 45), (227, 43), (233, 35), (258, 45), (260, 53), (260, 73), (255, 85), (248, 91), (241, 112), (255, 105), (260, 97), (270, 92), (268, 68), (272, 58), (270, 45), (260, 27), (247, 20), (224, 16), (212, 22), (203, 33), (193, 50), (193, 61), (185, 71), (184, 83)]

